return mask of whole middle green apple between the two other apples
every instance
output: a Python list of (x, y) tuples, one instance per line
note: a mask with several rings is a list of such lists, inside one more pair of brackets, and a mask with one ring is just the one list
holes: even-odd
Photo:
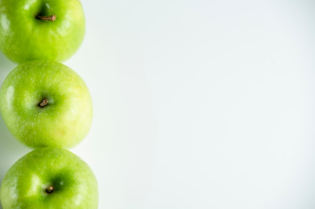
[(69, 67), (33, 60), (18, 65), (0, 89), (0, 111), (12, 135), (26, 146), (72, 148), (88, 134), (90, 91)]

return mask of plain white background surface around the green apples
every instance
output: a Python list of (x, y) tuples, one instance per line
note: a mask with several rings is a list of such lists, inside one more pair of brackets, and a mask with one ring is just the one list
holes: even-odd
[[(99, 208), (315, 208), (315, 2), (82, 0), (71, 149)], [(16, 66), (0, 54), (0, 84)], [(30, 151), (0, 118), (0, 179)]]

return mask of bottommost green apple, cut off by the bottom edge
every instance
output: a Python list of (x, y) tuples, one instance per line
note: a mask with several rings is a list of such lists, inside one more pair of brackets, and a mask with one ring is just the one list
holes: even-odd
[(2, 182), (0, 199), (4, 209), (96, 209), (98, 182), (77, 155), (43, 147), (12, 165)]

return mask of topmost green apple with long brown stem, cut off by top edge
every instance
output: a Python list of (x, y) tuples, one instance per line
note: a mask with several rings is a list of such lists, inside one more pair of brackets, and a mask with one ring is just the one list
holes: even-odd
[(78, 0), (0, 1), (0, 50), (13, 62), (63, 62), (81, 46), (84, 35)]

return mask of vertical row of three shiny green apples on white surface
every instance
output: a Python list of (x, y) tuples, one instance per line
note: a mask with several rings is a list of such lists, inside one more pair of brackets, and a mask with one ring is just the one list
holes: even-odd
[(12, 135), (33, 149), (2, 181), (4, 209), (98, 207), (93, 170), (68, 150), (86, 137), (93, 117), (86, 83), (61, 64), (84, 35), (78, 0), (0, 1), (0, 50), (19, 64), (0, 89), (0, 111)]

